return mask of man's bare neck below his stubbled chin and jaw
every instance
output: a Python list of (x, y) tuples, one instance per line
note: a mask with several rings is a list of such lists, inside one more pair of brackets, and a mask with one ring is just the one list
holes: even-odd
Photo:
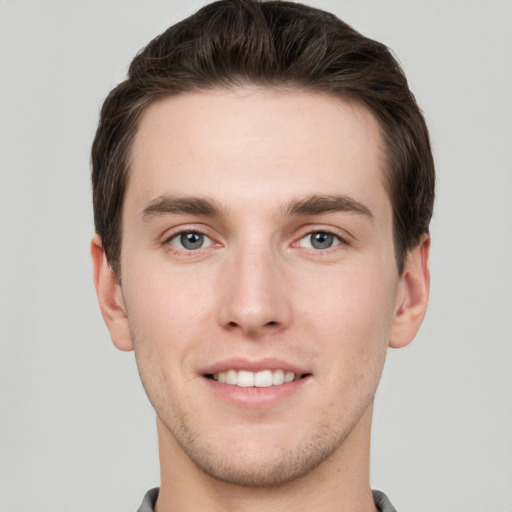
[(233, 485), (208, 475), (157, 419), (157, 512), (375, 512), (369, 483), (371, 416), (370, 406), (342, 446), (307, 475), (269, 488)]

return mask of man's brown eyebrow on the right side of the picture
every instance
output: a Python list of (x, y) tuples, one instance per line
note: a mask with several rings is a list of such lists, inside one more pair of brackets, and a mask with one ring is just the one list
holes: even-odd
[(284, 210), (285, 215), (320, 215), (330, 212), (356, 213), (372, 221), (374, 219), (367, 206), (345, 195), (312, 195), (294, 199)]

